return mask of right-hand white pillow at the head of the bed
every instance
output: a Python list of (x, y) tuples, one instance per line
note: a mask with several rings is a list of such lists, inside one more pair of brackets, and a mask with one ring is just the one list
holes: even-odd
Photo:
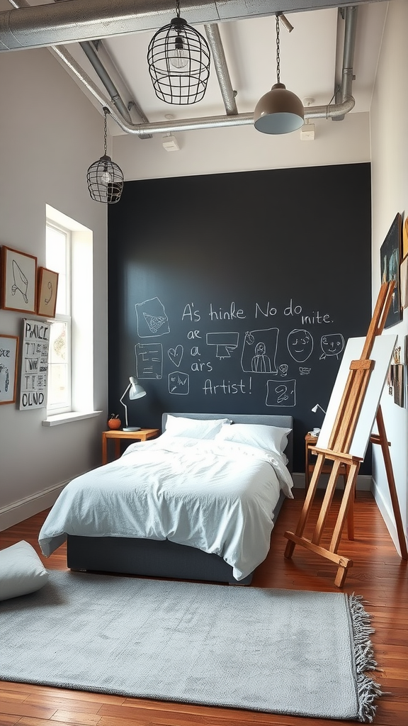
[(291, 428), (266, 426), (261, 423), (233, 423), (224, 426), (216, 435), (216, 441), (235, 441), (236, 444), (258, 446), (282, 454), (287, 446), (287, 434)]

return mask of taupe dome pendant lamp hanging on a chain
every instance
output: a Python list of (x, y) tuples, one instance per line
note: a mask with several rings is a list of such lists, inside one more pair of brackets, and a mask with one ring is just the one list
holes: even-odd
[(279, 15), (277, 12), (277, 83), (259, 99), (253, 113), (253, 125), (263, 134), (289, 134), (300, 129), (304, 120), (301, 99), (280, 83)]

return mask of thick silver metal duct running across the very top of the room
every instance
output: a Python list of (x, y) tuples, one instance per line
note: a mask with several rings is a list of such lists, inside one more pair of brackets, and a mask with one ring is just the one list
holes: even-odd
[[(364, 1), (367, 0), (354, 0), (353, 4)], [(285, 0), (285, 12), (334, 6), (333, 0)], [(281, 10), (280, 0), (187, 0), (183, 16), (187, 23), (197, 25), (269, 16)], [(168, 23), (171, 15), (174, 0), (65, 0), (6, 10), (0, 13), (0, 50), (54, 46), (153, 30)]]

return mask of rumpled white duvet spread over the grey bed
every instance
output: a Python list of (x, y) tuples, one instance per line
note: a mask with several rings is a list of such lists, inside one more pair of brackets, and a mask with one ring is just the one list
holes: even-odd
[(292, 486), (277, 453), (164, 434), (73, 479), (38, 542), (48, 557), (67, 534), (171, 539), (219, 555), (240, 580), (266, 558), (274, 507)]

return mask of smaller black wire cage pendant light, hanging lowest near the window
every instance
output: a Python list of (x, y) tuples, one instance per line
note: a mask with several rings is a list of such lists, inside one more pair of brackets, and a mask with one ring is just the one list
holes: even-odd
[(104, 107), (105, 114), (105, 152), (98, 161), (94, 161), (86, 174), (89, 194), (95, 202), (104, 202), (105, 204), (116, 204), (121, 199), (123, 190), (123, 171), (118, 164), (107, 156), (107, 113), (108, 108)]

